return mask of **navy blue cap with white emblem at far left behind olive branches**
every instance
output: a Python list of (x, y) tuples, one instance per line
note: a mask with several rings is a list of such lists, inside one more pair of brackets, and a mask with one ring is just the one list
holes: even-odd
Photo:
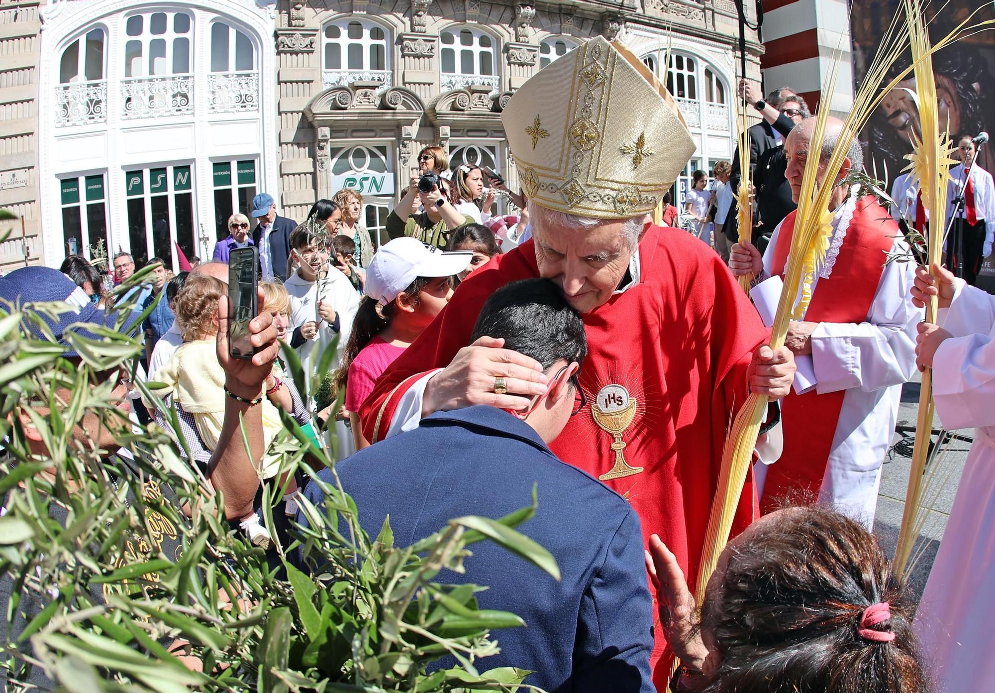
[[(100, 310), (90, 300), (87, 293), (76, 285), (68, 275), (59, 270), (49, 267), (22, 267), (14, 270), (10, 274), (0, 277), (0, 311), (8, 311), (12, 306), (20, 307), (26, 303), (44, 303), (49, 301), (64, 301), (74, 306), (73, 311), (68, 311), (59, 316), (58, 322), (53, 322), (48, 316), (35, 313), (44, 320), (52, 332), (55, 334), (59, 344), (66, 347), (64, 356), (78, 356), (74, 349), (65, 340), (64, 335), (71, 325), (78, 325), (73, 329), (77, 335), (91, 340), (100, 340), (99, 335), (89, 332), (86, 328), (79, 326), (80, 323), (90, 325), (100, 325), (101, 327), (114, 330), (117, 327), (117, 316), (119, 313), (106, 313)], [(32, 312), (31, 308), (27, 312)], [(138, 314), (130, 313), (124, 324), (121, 326), (122, 333), (128, 333), (137, 325)], [(45, 336), (30, 321), (24, 321), (22, 328), (30, 332), (33, 337), (44, 340)]]

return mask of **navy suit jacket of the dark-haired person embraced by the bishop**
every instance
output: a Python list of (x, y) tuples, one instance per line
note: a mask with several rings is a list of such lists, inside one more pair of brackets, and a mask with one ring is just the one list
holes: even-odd
[[(490, 542), (471, 547), (466, 575), (439, 576), (487, 585), (477, 594), (481, 608), (512, 611), (527, 624), (496, 630), (500, 653), (478, 668), (529, 669), (525, 683), (551, 692), (656, 690), (639, 518), (617, 493), (558, 460), (531, 426), (491, 406), (437, 412), (335, 469), (363, 530), (376, 537), (389, 514), (398, 546), (452, 518), (507, 515), (530, 503), (537, 483), (538, 510), (517, 530), (553, 555), (560, 581)], [(319, 477), (334, 483), (329, 470)], [(304, 495), (323, 500), (313, 483)]]

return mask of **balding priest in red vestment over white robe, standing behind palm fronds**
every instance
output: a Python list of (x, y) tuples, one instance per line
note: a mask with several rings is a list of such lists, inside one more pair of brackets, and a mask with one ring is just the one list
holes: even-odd
[[(811, 143), (814, 122), (803, 120), (784, 143), (785, 175), (796, 202), (805, 159), (811, 147), (820, 148)], [(842, 136), (843, 121), (830, 118), (822, 150)], [(915, 264), (887, 262), (890, 254), (909, 255), (895, 220), (874, 196), (862, 197), (859, 185), (845, 182), (851, 169), (862, 168), (856, 137), (848, 153), (840, 171), (830, 175), (825, 162), (819, 171), (820, 184), (827, 179), (834, 184), (832, 238), (816, 269), (812, 301), (788, 331), (786, 344), (795, 352), (798, 375), (781, 402), (783, 451), (776, 462), (755, 471), (764, 513), (776, 510), (785, 497), (818, 499), (872, 529), (901, 383), (915, 370), (922, 312), (909, 294)], [(748, 243), (730, 251), (733, 274), (763, 280), (754, 296), (768, 295), (764, 285), (771, 282), (781, 286), (796, 214), (774, 230), (762, 259)], [(763, 310), (762, 298), (758, 308)]]

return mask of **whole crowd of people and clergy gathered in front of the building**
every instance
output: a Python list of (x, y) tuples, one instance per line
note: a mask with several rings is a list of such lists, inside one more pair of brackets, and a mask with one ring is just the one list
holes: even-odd
[[(337, 476), (371, 536), (388, 514), (402, 544), (452, 517), (501, 517), (537, 484), (539, 510), (521, 529), (553, 555), (561, 579), (486, 545), (465, 575), (447, 576), (489, 585), (483, 608), (524, 618), (527, 628), (497, 632), (493, 660), (534, 671), (532, 685), (983, 690), (995, 675), (980, 656), (995, 645), (985, 622), (995, 561), (984, 546), (995, 432), (979, 428), (950, 518), (957, 536), (941, 545), (918, 615), (872, 530), (900, 386), (916, 367), (946, 369), (936, 379), (944, 425), (995, 425), (983, 414), (995, 303), (942, 268), (931, 268), (934, 280), (913, 263), (884, 262), (909, 248), (882, 202), (854, 182), (863, 170), (857, 138), (830, 118), (814, 141), (807, 105), (787, 88), (761, 100), (740, 86), (762, 116), (750, 129), (750, 170), (738, 156), (717, 163), (712, 190), (696, 171), (683, 200), (694, 232), (673, 228), (680, 210), (670, 182), (645, 181), (675, 180), (694, 150), (690, 136), (674, 134), (687, 134), (677, 107), (613, 45), (594, 39), (576, 50), (577, 60), (538, 73), (502, 113), (523, 180), (516, 193), (489, 169), (451, 170), (446, 150), (428, 146), (380, 247), (361, 224), (356, 190), (318, 200), (300, 223), (261, 193), (228, 220), (210, 262), (173, 277), (153, 258), (146, 281), (116, 306), (109, 290), (135, 271), (126, 253), (107, 277), (79, 256), (59, 272), (17, 270), (0, 278), (0, 299), (69, 301), (86, 307), (83, 323), (105, 324), (120, 305), (144, 313), (137, 372), (161, 383), (158, 401), (115, 396), (134, 404), (136, 425), (177, 413), (188, 462), (224, 493), (233, 531), (264, 549), (305, 523), (301, 495), (323, 502), (317, 486), (280, 471), (270, 443), (282, 413), (309, 436), (336, 439)], [(611, 94), (547, 98), (607, 55), (618, 61)], [(630, 132), (628, 116), (611, 114), (634, 96), (646, 116)], [(593, 98), (608, 102), (601, 131), (642, 140), (645, 127), (657, 155), (636, 160), (631, 147), (592, 149), (567, 136), (573, 102)], [(547, 136), (535, 137), (528, 126), (534, 132), (540, 117)], [(837, 143), (847, 157), (831, 171)], [(832, 239), (811, 303), (785, 346), (772, 348), (810, 156), (819, 157), (820, 184), (832, 186)], [(567, 173), (557, 165), (592, 187), (560, 194)], [(752, 241), (739, 243), (735, 198), (746, 181), (757, 213)], [(962, 187), (973, 211), (959, 252), (977, 264), (990, 252), (984, 210), (995, 196), (980, 183)], [(519, 213), (497, 214), (499, 195)], [(897, 197), (904, 221), (915, 194)], [(651, 223), (655, 212), (663, 226)], [(975, 252), (979, 234), (987, 245)], [(260, 311), (249, 328), (256, 353), (242, 361), (229, 355), (227, 262), (247, 247), (259, 257)], [(750, 296), (740, 276), (750, 278)], [(939, 326), (921, 324), (930, 295), (947, 309)], [(281, 343), (305, 373), (327, 375), (331, 404), (298, 391)], [(749, 392), (772, 404), (734, 539), (696, 604), (688, 584), (701, 566), (726, 427)], [(267, 484), (284, 494), (275, 526), (261, 512)]]

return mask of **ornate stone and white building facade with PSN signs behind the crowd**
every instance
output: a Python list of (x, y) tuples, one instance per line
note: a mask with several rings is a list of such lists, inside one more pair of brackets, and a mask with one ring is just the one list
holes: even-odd
[[(23, 264), (27, 247), (29, 262), (58, 267), (102, 245), (175, 270), (177, 247), (209, 257), (263, 191), (302, 219), (358, 188), (376, 231), (428, 144), (515, 188), (501, 109), (599, 34), (678, 100), (697, 141), (686, 177), (731, 157), (732, 0), (277, 2), (0, 0), (0, 206), (27, 230), (0, 262)], [(759, 79), (762, 49), (747, 41)]]

